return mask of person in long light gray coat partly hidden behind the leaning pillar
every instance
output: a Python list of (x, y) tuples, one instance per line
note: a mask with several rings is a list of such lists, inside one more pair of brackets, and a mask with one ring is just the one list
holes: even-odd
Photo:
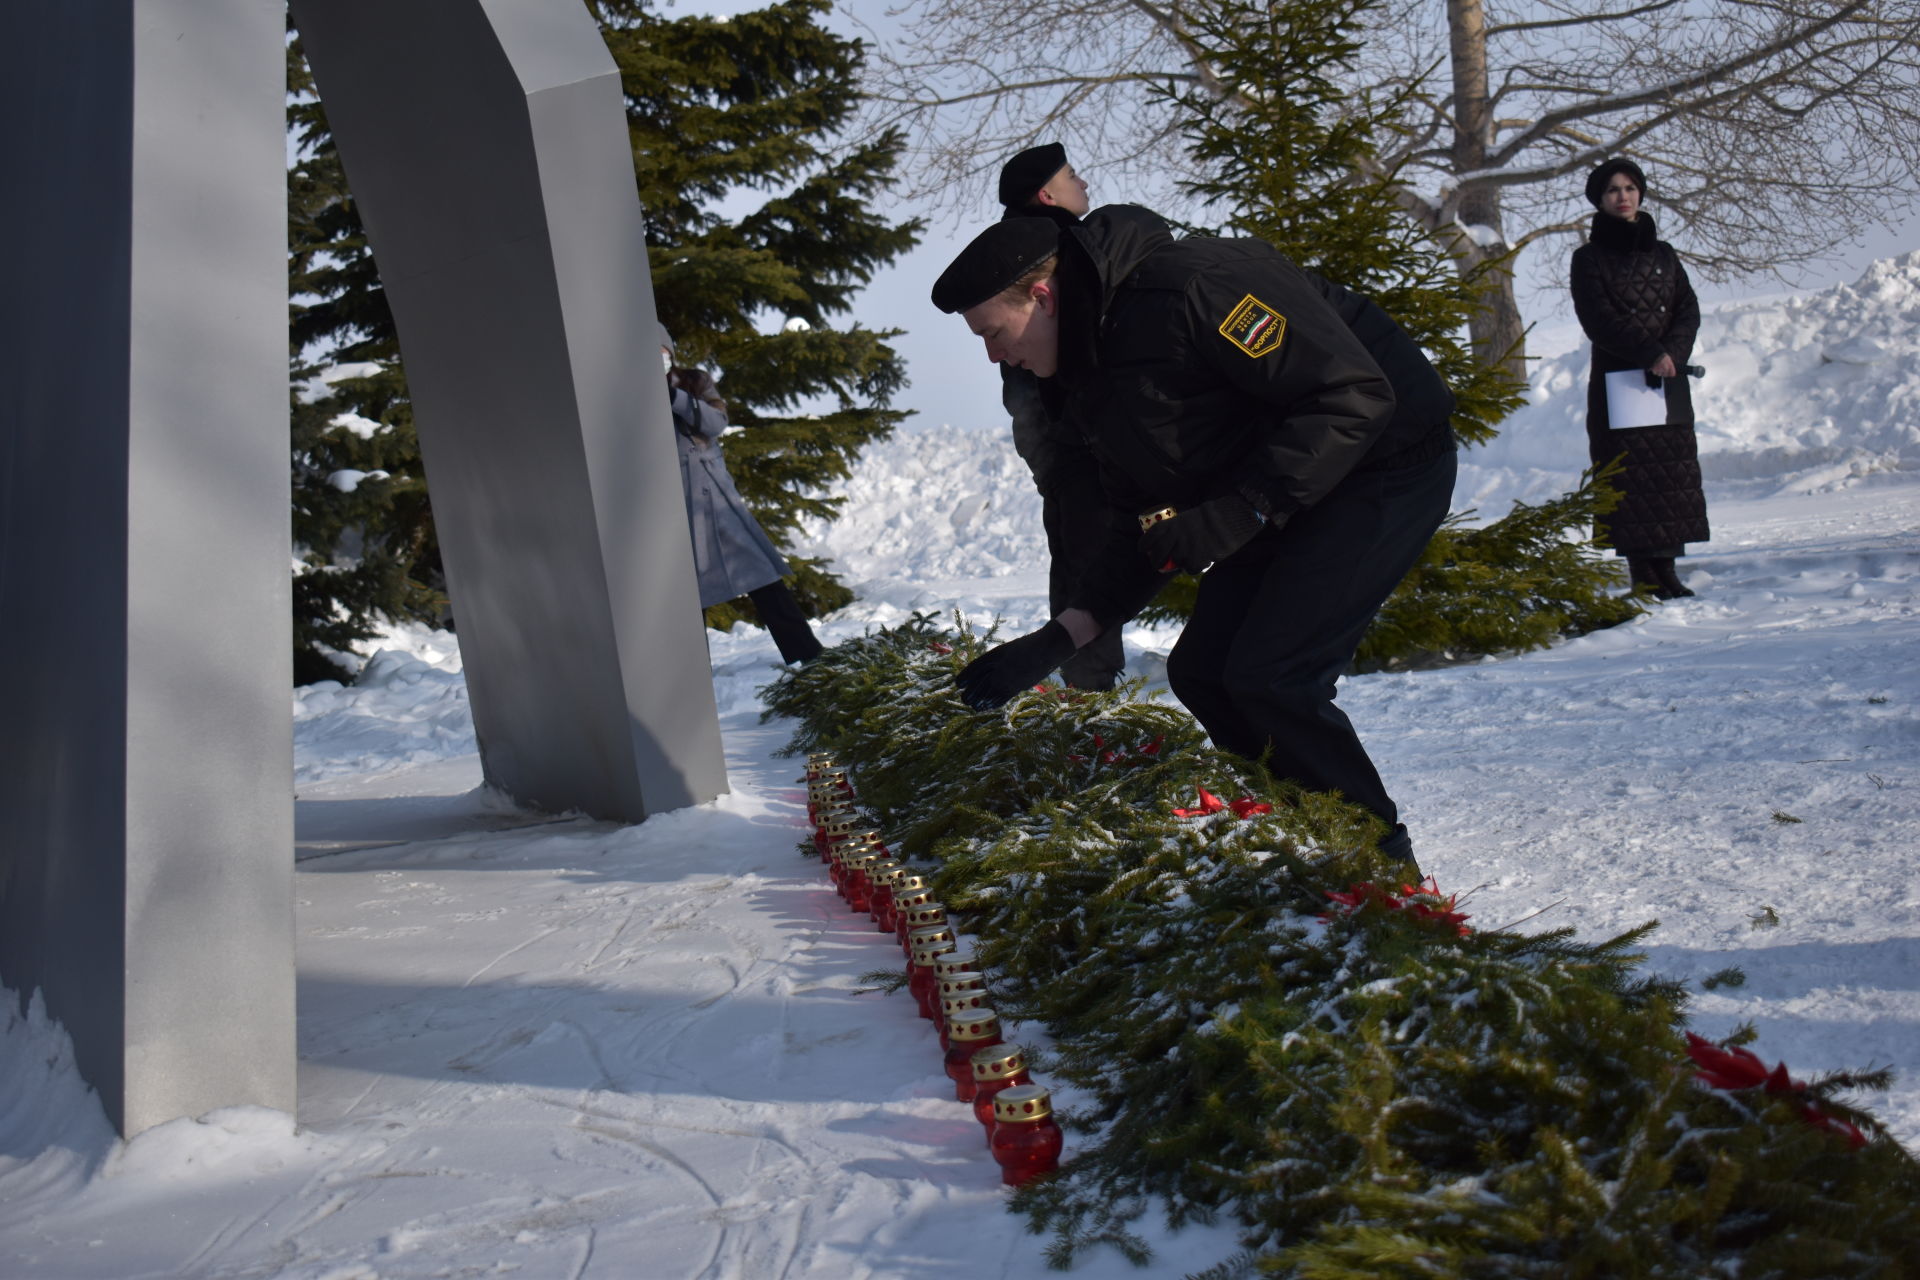
[(820, 639), (806, 626), (806, 616), (785, 583), (791, 570), (760, 522), (747, 510), (720, 455), (720, 436), (728, 420), (726, 401), (712, 374), (703, 368), (678, 368), (664, 330), (660, 359), (666, 365), (674, 438), (680, 441), (680, 484), (687, 497), (687, 532), (693, 537), (701, 608), (745, 595), (772, 633), (781, 662), (818, 658)]

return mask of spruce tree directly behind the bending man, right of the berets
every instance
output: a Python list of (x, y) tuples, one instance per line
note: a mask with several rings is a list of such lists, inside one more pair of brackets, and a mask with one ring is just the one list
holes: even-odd
[[(1461, 276), (1430, 232), (1405, 217), (1380, 165), (1394, 121), (1419, 84), (1392, 98), (1354, 94), (1346, 71), (1363, 23), (1384, 0), (1202, 0), (1188, 33), (1219, 84), (1169, 88), (1167, 102), (1198, 177), (1185, 182), (1219, 223), (1204, 232), (1256, 236), (1380, 305), (1427, 351), (1455, 395), (1469, 445), (1494, 438), (1524, 388), (1503, 365), (1475, 359), (1467, 322), (1480, 274)], [(1388, 146), (1394, 144), (1394, 146)], [(1488, 261), (1478, 273), (1503, 269)], [(1517, 652), (1613, 626), (1640, 612), (1613, 597), (1619, 570), (1584, 545), (1596, 510), (1617, 495), (1601, 478), (1486, 528), (1448, 522), (1361, 643), (1357, 668), (1407, 668)], [(1144, 614), (1187, 618), (1198, 583), (1177, 578)]]

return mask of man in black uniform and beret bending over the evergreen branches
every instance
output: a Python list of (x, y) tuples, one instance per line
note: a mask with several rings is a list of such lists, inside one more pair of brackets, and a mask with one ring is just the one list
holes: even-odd
[(1204, 572), (1167, 683), (1213, 745), (1398, 810), (1334, 681), (1446, 518), (1453, 395), (1373, 303), (1260, 240), (1175, 242), (1152, 213), (1010, 219), (933, 286), (987, 355), (1033, 372), (1098, 466), (1108, 533), (1068, 608), (960, 674), (998, 706)]

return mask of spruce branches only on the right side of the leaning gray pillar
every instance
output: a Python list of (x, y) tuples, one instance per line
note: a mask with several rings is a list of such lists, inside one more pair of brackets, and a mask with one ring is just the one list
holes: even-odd
[[(860, 286), (920, 238), (879, 203), (899, 132), (831, 150), (858, 106), (866, 52), (822, 25), (828, 0), (733, 17), (662, 19), (643, 0), (589, 0), (620, 65), (660, 320), (682, 365), (722, 376), (728, 470), (774, 545), (831, 518), (822, 491), (906, 415), (906, 368), (851, 315)], [(755, 200), (745, 215), (732, 215)], [(760, 332), (764, 320), (774, 320)], [(789, 322), (781, 322), (789, 320)], [(852, 599), (820, 562), (789, 557), (812, 614)], [(720, 628), (751, 618), (735, 601)]]

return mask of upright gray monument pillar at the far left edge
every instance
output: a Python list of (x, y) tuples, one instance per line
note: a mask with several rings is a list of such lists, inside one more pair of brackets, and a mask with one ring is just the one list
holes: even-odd
[(0, 12), (0, 981), (127, 1134), (294, 1107), (282, 42)]

